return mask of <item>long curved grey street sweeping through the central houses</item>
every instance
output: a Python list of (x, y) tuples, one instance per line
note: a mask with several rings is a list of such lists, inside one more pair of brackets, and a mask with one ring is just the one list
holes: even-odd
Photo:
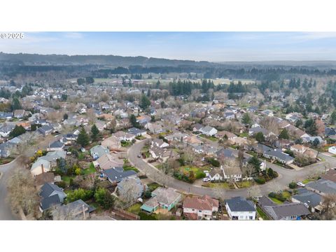
[(172, 176), (165, 175), (159, 169), (154, 167), (148, 162), (145, 162), (142, 158), (138, 158), (141, 149), (144, 147), (145, 141), (138, 141), (127, 151), (128, 158), (134, 167), (137, 167), (141, 172), (144, 172), (149, 179), (156, 181), (164, 186), (168, 186), (179, 190), (183, 193), (192, 193), (195, 195), (209, 195), (211, 197), (248, 197), (252, 190), (258, 191), (259, 195), (267, 195), (273, 190), (282, 190), (288, 188), (288, 184), (291, 181), (302, 181), (306, 179), (309, 175), (321, 174), (325, 171), (325, 166), (328, 168), (336, 167), (336, 158), (331, 158), (329, 156), (320, 154), (319, 157), (325, 159), (324, 162), (318, 162), (314, 165), (309, 165), (300, 170), (285, 169), (279, 167), (278, 165), (271, 164), (267, 162), (267, 167), (271, 167), (274, 171), (278, 172), (279, 177), (265, 183), (264, 185), (256, 185), (251, 188), (241, 188), (241, 189), (219, 189), (216, 188), (206, 188), (202, 186), (196, 186), (183, 181), (174, 179)]

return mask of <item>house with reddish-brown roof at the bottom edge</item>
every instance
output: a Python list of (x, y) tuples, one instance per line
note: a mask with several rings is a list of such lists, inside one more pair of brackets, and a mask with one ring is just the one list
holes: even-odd
[(219, 202), (207, 195), (186, 197), (183, 202), (183, 214), (191, 220), (211, 220), (212, 213), (218, 211)]

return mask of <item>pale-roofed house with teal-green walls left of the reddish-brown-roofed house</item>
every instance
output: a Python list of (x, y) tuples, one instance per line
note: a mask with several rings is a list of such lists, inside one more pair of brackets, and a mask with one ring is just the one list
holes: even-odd
[(181, 200), (181, 194), (172, 188), (158, 187), (151, 193), (151, 199), (147, 200), (141, 209), (148, 213), (153, 213), (158, 209), (170, 211)]

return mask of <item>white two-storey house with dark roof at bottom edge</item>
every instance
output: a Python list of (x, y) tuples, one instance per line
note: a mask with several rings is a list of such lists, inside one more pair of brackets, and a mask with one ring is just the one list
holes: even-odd
[(225, 200), (225, 208), (231, 220), (255, 220), (255, 205), (243, 197), (233, 197)]

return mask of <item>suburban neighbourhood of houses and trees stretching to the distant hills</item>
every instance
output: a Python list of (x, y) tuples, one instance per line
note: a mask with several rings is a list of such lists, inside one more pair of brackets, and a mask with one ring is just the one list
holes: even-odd
[(0, 52), (0, 220), (336, 219), (335, 69)]

